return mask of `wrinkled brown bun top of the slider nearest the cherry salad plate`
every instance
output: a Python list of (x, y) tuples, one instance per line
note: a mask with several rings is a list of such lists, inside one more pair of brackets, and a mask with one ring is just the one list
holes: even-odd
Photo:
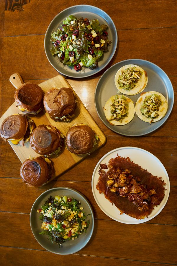
[(44, 95), (44, 108), (51, 118), (62, 117), (73, 111), (75, 97), (71, 88), (52, 88)]

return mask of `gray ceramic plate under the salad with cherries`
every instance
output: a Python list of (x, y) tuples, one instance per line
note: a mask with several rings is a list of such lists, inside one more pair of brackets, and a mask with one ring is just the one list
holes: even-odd
[[(87, 17), (88, 19), (98, 19), (100, 24), (108, 25), (109, 29), (107, 30), (107, 32), (109, 40), (111, 40), (112, 43), (111, 46), (109, 46), (109, 51), (107, 53), (104, 53), (104, 56), (99, 61), (99, 67), (96, 67), (92, 70), (83, 67), (81, 71), (76, 72), (76, 70), (71, 69), (68, 66), (64, 66), (60, 62), (58, 56), (51, 55), (50, 48), (52, 47), (52, 42), (50, 42), (50, 35), (54, 31), (56, 31), (58, 27), (60, 27), (60, 24), (62, 24), (63, 20), (65, 20), (66, 17), (68, 17), (69, 15), (75, 15), (78, 18)], [(50, 64), (61, 74), (74, 78), (89, 77), (98, 73), (100, 70), (106, 67), (114, 56), (114, 53), (117, 48), (117, 30), (114, 25), (114, 22), (109, 17), (109, 15), (98, 7), (93, 7), (89, 5), (77, 5), (73, 7), (68, 7), (67, 9), (64, 9), (62, 12), (60, 12), (56, 17), (54, 17), (54, 19), (50, 22), (50, 25), (48, 26), (45, 34), (44, 48), (47, 59), (49, 60)]]

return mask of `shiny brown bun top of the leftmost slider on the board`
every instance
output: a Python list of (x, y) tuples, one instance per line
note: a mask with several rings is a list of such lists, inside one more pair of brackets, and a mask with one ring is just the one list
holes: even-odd
[(3, 140), (19, 140), (27, 131), (28, 120), (25, 115), (8, 116), (1, 124), (0, 135)]

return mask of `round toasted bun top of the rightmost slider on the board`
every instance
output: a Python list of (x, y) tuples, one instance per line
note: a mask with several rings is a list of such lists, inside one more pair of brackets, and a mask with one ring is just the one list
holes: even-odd
[(86, 125), (72, 126), (66, 134), (66, 145), (71, 153), (89, 153), (94, 146), (94, 132)]

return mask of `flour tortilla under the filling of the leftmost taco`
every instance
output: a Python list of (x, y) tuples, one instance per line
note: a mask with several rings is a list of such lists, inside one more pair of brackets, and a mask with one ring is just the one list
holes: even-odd
[[(120, 98), (122, 95), (117, 95), (117, 96), (118, 96), (118, 98)], [(111, 125), (123, 126), (123, 125), (128, 124), (134, 118), (134, 115), (135, 115), (135, 106), (134, 106), (133, 101), (130, 98), (124, 96), (126, 98), (127, 102), (128, 102), (128, 113), (127, 113), (127, 117), (124, 117), (124, 119), (122, 120), (122, 123), (120, 121), (117, 121), (117, 120), (111, 120), (111, 121), (109, 121), (109, 119), (112, 116), (112, 113), (111, 113), (111, 105), (114, 102), (115, 97), (116, 97), (116, 95), (111, 96), (107, 100), (107, 102), (106, 102), (106, 104), (104, 106), (104, 114), (106, 116), (106, 119), (108, 120), (108, 122)]]

